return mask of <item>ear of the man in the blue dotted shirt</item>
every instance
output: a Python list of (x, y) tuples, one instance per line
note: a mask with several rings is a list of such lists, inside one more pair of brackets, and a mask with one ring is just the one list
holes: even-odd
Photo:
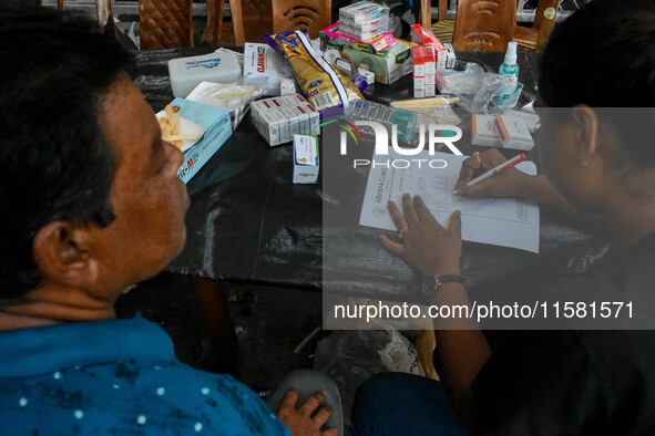
[(32, 253), (42, 280), (85, 287), (98, 278), (98, 261), (86, 242), (84, 226), (54, 221), (43, 226), (32, 242)]

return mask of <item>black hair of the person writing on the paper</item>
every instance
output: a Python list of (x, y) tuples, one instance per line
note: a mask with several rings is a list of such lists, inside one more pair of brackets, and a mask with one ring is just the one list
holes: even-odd
[(621, 135), (617, 158), (655, 168), (655, 0), (594, 0), (572, 14), (543, 52), (539, 93), (550, 107), (594, 107)]

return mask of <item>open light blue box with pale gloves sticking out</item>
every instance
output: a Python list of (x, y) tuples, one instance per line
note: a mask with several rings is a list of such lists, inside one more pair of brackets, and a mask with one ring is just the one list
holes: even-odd
[(184, 98), (173, 100), (171, 106), (181, 117), (205, 129), (203, 137), (184, 152), (184, 163), (177, 170), (177, 177), (187, 183), (232, 136), (229, 112)]

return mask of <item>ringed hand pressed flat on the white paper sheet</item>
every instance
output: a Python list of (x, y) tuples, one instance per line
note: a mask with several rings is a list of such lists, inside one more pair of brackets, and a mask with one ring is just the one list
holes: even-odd
[(402, 214), (393, 201), (389, 212), (402, 239), (393, 242), (380, 235), (380, 242), (424, 274), (459, 274), (462, 256), (461, 217), (457, 210), (450, 216), (448, 228), (441, 226), (421, 197), (402, 196)]

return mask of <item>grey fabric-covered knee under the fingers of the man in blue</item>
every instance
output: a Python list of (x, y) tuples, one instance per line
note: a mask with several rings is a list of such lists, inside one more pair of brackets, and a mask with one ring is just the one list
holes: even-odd
[(273, 392), (268, 398), (268, 406), (273, 412), (277, 412), (285, 394), (291, 387), (298, 390), (298, 401), (296, 408), (300, 407), (305, 401), (313, 394), (323, 391), (327, 398), (323, 403), (330, 406), (335, 412), (326, 423), (323, 429), (336, 428), (339, 436), (344, 434), (344, 412), (341, 409), (341, 396), (335, 382), (327, 375), (311, 370), (298, 370), (290, 372), (279, 384), (277, 390)]

